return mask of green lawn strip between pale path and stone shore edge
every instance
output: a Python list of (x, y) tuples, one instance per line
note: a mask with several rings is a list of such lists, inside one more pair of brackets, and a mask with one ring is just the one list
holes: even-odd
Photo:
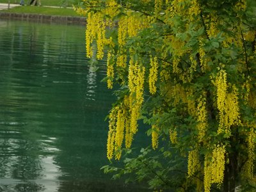
[(49, 8), (44, 6), (17, 6), (10, 10), (1, 10), (0, 12), (10, 13), (37, 13), (44, 15), (61, 15), (61, 16), (81, 16), (70, 8)]

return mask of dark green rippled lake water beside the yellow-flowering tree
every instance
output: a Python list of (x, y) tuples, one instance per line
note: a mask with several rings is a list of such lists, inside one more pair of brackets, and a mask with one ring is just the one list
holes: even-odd
[(113, 98), (84, 26), (0, 19), (0, 191), (141, 191), (104, 175)]

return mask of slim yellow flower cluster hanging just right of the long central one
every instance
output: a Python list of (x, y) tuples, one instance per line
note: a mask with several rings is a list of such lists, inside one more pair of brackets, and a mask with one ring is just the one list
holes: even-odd
[(149, 77), (148, 77), (148, 84), (149, 84), (149, 92), (154, 95), (156, 93), (156, 81), (157, 81), (157, 74), (158, 74), (158, 62), (157, 58), (150, 57), (150, 70), (149, 70)]

